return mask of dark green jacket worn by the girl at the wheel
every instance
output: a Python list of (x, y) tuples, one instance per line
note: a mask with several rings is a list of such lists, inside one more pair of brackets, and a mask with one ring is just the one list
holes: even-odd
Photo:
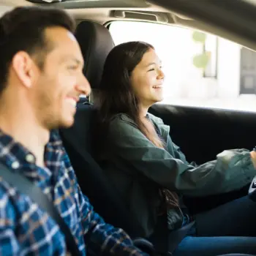
[(170, 127), (161, 118), (148, 116), (159, 128), (167, 150), (154, 146), (129, 116), (118, 114), (110, 122), (108, 143), (100, 157), (127, 210), (138, 219), (142, 235), (151, 234), (157, 222), (162, 202), (159, 187), (181, 195), (206, 196), (240, 189), (256, 175), (246, 149), (223, 151), (203, 165), (189, 164), (171, 140)]

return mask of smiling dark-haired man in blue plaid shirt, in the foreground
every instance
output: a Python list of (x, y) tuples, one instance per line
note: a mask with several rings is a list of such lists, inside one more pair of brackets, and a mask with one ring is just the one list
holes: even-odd
[[(93, 211), (58, 133), (50, 132), (70, 127), (79, 95), (90, 92), (74, 27), (65, 12), (38, 7), (0, 19), (0, 162), (48, 195), (81, 255), (146, 255)], [(0, 173), (0, 255), (66, 253), (56, 222)]]

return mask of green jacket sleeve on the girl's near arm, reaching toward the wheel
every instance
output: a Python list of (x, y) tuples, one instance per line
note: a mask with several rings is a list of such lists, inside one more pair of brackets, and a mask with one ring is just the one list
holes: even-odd
[[(111, 147), (118, 159), (170, 190), (184, 195), (205, 196), (240, 189), (256, 175), (249, 151), (226, 150), (203, 165), (190, 165), (174, 145), (173, 157), (158, 148), (134, 124), (119, 117), (109, 127)], [(178, 157), (178, 158), (177, 158)], [(182, 160), (181, 160), (182, 159)]]

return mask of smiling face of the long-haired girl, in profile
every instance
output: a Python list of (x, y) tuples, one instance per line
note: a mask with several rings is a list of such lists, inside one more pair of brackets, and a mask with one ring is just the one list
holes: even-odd
[(149, 108), (163, 99), (164, 78), (159, 57), (155, 50), (149, 49), (131, 75), (132, 88), (143, 108)]

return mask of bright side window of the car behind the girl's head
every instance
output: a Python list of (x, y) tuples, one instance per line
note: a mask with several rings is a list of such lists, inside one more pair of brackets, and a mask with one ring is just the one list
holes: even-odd
[(201, 31), (157, 23), (114, 21), (116, 45), (154, 46), (165, 72), (165, 99), (187, 105), (256, 112), (256, 53)]

